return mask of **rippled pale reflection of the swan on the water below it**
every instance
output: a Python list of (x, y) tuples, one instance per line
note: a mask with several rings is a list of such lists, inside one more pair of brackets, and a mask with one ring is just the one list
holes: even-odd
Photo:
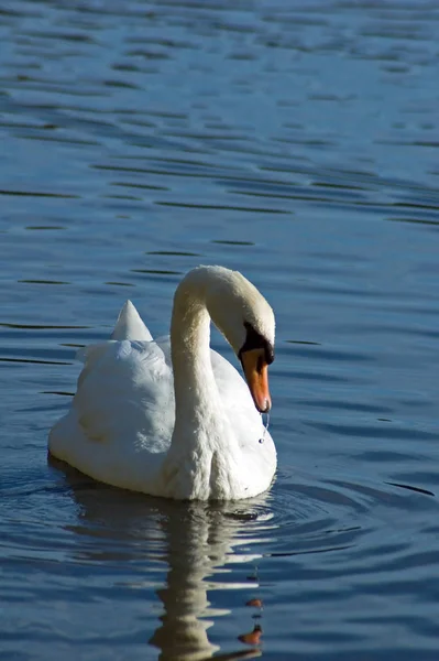
[[(251, 582), (230, 581), (233, 570), (229, 565), (250, 563), (248, 574), (255, 574), (261, 557), (255, 543), (273, 529), (268, 496), (240, 503), (176, 502), (113, 489), (70, 469), (66, 476), (79, 508), (77, 522), (69, 527), (79, 535), (75, 557), (83, 562), (129, 562), (136, 571), (124, 587), (150, 590), (150, 600), (155, 588), (163, 611), (157, 628), (152, 636), (151, 629), (145, 632), (145, 639), (150, 636), (150, 644), (158, 648), (161, 661), (261, 654), (262, 603), (254, 593), (256, 576), (251, 576)], [(164, 586), (156, 588), (163, 563), (166, 578)], [(219, 589), (245, 593), (242, 598), (228, 599), (230, 608), (218, 609), (211, 606), (208, 593)], [(218, 654), (220, 647), (209, 640), (209, 629), (218, 617), (231, 614), (234, 604), (249, 606), (249, 626), (227, 641), (233, 651)]]

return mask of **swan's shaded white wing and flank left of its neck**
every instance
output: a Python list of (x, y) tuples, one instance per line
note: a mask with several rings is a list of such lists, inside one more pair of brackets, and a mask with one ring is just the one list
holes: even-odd
[(80, 358), (77, 392), (51, 431), (51, 453), (101, 481), (152, 492), (175, 421), (162, 349), (155, 342), (109, 340)]

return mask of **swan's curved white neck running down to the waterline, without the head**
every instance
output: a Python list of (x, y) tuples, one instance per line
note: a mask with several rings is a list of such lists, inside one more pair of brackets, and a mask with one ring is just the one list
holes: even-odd
[(209, 273), (197, 270), (182, 281), (174, 296), (175, 427), (165, 463), (174, 494), (202, 500), (227, 499), (235, 492), (241, 460), (212, 369), (209, 286)]

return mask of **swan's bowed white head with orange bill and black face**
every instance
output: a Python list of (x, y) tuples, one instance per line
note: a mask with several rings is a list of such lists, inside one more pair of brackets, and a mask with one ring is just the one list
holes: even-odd
[(274, 360), (273, 310), (239, 271), (222, 267), (201, 269), (210, 317), (241, 361), (256, 409), (267, 412), (272, 407), (267, 368)]

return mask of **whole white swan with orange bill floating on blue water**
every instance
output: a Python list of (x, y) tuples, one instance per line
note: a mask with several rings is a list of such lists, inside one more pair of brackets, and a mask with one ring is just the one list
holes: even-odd
[[(240, 358), (248, 386), (210, 349), (210, 318)], [(276, 469), (256, 410), (271, 408), (274, 326), (256, 288), (222, 267), (198, 267), (182, 280), (171, 344), (154, 342), (127, 302), (112, 340), (81, 350), (85, 367), (70, 410), (50, 433), (51, 454), (95, 479), (152, 496), (261, 494)]]

